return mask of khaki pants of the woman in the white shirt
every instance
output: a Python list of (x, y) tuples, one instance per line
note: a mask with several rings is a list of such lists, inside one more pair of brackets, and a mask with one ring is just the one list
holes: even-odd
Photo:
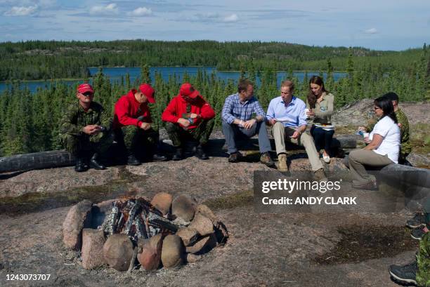
[(363, 185), (372, 180), (372, 177), (367, 173), (363, 165), (383, 167), (391, 163), (393, 161), (388, 156), (382, 156), (372, 150), (353, 150), (348, 156), (349, 170), (353, 176), (353, 185)]

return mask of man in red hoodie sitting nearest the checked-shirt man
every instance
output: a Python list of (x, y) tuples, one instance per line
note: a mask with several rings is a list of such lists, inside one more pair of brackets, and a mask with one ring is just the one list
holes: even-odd
[(189, 83), (179, 89), (179, 94), (171, 99), (162, 114), (162, 121), (167, 121), (166, 130), (176, 147), (173, 160), (183, 159), (183, 142), (198, 140), (196, 155), (199, 159), (209, 159), (206, 144), (214, 128), (214, 109), (204, 100), (199, 91)]

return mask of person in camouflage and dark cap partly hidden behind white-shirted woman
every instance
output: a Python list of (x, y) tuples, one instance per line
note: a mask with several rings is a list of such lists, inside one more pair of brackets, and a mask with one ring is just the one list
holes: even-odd
[[(410, 144), (409, 139), (409, 121), (406, 114), (398, 107), (398, 95), (396, 93), (390, 92), (383, 95), (387, 97), (393, 102), (394, 112), (396, 113), (398, 127), (400, 128), (400, 153), (398, 156), (398, 163), (410, 165), (410, 163), (406, 160), (406, 156), (408, 156), (411, 152), (412, 145)], [(377, 123), (377, 119), (370, 119), (365, 128), (360, 127), (359, 129), (365, 130), (367, 132), (372, 131), (374, 125)]]

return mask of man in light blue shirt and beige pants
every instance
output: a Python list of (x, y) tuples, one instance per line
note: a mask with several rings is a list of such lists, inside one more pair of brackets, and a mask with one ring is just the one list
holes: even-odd
[(293, 91), (293, 82), (283, 81), (280, 97), (271, 100), (266, 113), (268, 123), (273, 126), (272, 133), (273, 138), (275, 138), (276, 154), (278, 154), (278, 168), (280, 171), (288, 171), (287, 150), (285, 149), (285, 141), (287, 140), (306, 149), (315, 177), (324, 180), (323, 163), (320, 161), (315, 143), (311, 135), (305, 133), (306, 105), (304, 101), (293, 95)]

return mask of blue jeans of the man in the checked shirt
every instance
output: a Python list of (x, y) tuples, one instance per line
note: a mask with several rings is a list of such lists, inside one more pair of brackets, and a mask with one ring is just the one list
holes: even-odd
[(226, 121), (223, 121), (223, 134), (224, 137), (226, 137), (226, 143), (228, 146), (227, 152), (229, 154), (237, 152), (236, 140), (238, 138), (252, 138), (257, 133), (259, 134), (260, 152), (263, 154), (264, 152), (271, 151), (271, 142), (268, 139), (266, 123), (264, 121), (254, 124), (254, 126), (249, 128), (249, 130), (246, 128), (240, 128), (235, 124), (228, 124)]

